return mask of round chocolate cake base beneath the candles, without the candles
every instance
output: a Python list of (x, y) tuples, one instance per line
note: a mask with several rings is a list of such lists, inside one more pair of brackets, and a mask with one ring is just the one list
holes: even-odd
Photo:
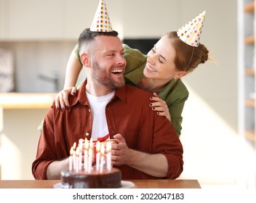
[(120, 188), (121, 171), (112, 167), (110, 171), (103, 169), (100, 173), (93, 167), (90, 173), (63, 170), (61, 172), (62, 188)]

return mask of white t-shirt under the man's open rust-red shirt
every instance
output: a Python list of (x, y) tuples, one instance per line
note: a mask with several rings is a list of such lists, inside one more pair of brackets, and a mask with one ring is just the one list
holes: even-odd
[(108, 135), (108, 125), (105, 118), (105, 106), (112, 99), (115, 91), (105, 96), (92, 96), (87, 92), (87, 98), (92, 112), (92, 139)]

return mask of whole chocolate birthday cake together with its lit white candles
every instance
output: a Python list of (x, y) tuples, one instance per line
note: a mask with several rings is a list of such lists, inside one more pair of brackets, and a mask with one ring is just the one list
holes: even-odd
[[(121, 187), (121, 170), (111, 165), (111, 144), (109, 135), (79, 141), (71, 147), (69, 170), (60, 173), (61, 188), (119, 188)], [(92, 160), (95, 160), (92, 161)]]

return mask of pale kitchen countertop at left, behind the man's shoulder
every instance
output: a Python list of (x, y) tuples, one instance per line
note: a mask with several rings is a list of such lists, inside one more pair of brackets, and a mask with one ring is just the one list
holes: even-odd
[(0, 108), (46, 109), (57, 93), (0, 93)]

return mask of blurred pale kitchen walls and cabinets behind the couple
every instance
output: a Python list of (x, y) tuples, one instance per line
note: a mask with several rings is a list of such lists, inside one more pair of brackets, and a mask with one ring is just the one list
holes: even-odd
[[(240, 125), (246, 24), (241, 15), (250, 1), (105, 0), (113, 29), (127, 43), (155, 41), (207, 11), (201, 43), (215, 62), (200, 65), (183, 78), (190, 96), (180, 136), (185, 162), (180, 178), (197, 179), (204, 187), (256, 184), (255, 146), (244, 138)], [(5, 51), (10, 59), (5, 62), (9, 71), (0, 77), (2, 81), (13, 77), (8, 91), (60, 91), (68, 57), (81, 30), (90, 26), (97, 4), (97, 0), (0, 0), (0, 53)], [(79, 80), (84, 76), (81, 72)], [(36, 128), (46, 112), (47, 108), (36, 107), (0, 109), (1, 179), (33, 179)]]

